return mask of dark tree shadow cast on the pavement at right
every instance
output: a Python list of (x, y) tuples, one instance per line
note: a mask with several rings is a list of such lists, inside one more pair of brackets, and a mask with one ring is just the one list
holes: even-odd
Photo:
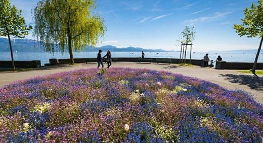
[(225, 80), (228, 80), (231, 83), (246, 85), (250, 89), (263, 91), (263, 77), (257, 77), (254, 75), (233, 75), (233, 74), (226, 74), (220, 76), (224, 77)]

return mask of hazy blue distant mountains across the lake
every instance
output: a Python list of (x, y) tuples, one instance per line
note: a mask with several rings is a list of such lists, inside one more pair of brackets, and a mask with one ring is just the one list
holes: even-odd
[[(12, 39), (12, 48), (13, 51), (18, 52), (42, 52), (45, 51), (45, 47), (40, 46), (40, 42), (31, 39)], [(126, 48), (117, 48), (115, 46), (106, 45), (102, 47), (92, 47), (92, 46), (85, 46), (83, 51), (98, 51), (99, 49), (103, 51), (119, 51), (119, 52), (164, 52), (166, 50), (163, 49), (143, 49), (139, 47), (126, 47)], [(55, 47), (55, 51), (59, 51), (58, 47)], [(7, 38), (0, 38), (0, 51), (10, 51), (9, 42)]]

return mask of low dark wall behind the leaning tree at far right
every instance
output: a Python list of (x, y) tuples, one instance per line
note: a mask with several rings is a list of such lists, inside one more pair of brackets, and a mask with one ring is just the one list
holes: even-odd
[[(253, 64), (253, 62), (216, 61), (215, 69), (252, 69)], [(257, 63), (256, 69), (263, 69), (263, 63)]]

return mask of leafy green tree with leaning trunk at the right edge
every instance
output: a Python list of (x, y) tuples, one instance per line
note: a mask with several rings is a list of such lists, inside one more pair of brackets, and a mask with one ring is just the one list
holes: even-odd
[(263, 41), (263, 4), (262, 0), (258, 0), (258, 6), (252, 3), (251, 8), (246, 8), (244, 10), (245, 18), (241, 19), (243, 24), (235, 24), (234, 29), (238, 35), (247, 37), (260, 37), (261, 41), (257, 54), (255, 57), (254, 65), (252, 68), (252, 73), (255, 74), (257, 59), (260, 53), (262, 41)]

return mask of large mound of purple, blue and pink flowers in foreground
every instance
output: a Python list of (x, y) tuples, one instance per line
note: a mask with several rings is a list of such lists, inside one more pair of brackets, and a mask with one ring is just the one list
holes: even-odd
[(247, 93), (149, 69), (81, 69), (0, 89), (0, 142), (260, 142)]

